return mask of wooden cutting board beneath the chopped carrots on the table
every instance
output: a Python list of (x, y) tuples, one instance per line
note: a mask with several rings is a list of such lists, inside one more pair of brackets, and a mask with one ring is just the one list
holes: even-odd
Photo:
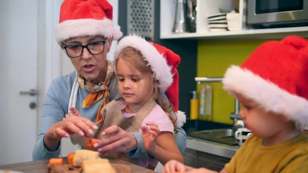
[[(130, 166), (125, 164), (111, 164), (117, 173), (130, 173)], [(79, 173), (81, 167), (74, 167), (72, 164), (51, 165), (48, 167), (50, 173)]]

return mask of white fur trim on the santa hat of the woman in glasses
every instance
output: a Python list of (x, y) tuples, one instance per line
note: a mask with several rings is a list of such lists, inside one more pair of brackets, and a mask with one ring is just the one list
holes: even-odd
[(103, 20), (66, 20), (56, 25), (55, 35), (60, 45), (65, 39), (76, 36), (103, 35), (107, 38), (113, 37), (113, 40), (117, 40), (122, 37), (123, 33), (119, 25), (113, 26), (112, 20), (105, 18)]

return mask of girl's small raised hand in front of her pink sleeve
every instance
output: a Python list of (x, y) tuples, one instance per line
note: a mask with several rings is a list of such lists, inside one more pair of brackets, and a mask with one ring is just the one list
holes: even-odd
[(161, 133), (157, 124), (153, 122), (146, 122), (145, 125), (141, 126), (142, 129), (142, 140), (147, 151), (153, 151), (156, 147), (156, 138)]

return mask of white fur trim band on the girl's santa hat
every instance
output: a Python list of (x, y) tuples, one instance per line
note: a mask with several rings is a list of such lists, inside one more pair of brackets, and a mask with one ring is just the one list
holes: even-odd
[(132, 47), (141, 52), (145, 60), (154, 72), (155, 79), (159, 80), (161, 92), (167, 91), (173, 82), (171, 67), (168, 66), (164, 55), (160, 54), (157, 49), (148, 41), (137, 35), (125, 36), (119, 41), (117, 49), (114, 52), (114, 59), (117, 59), (120, 52), (126, 48)]

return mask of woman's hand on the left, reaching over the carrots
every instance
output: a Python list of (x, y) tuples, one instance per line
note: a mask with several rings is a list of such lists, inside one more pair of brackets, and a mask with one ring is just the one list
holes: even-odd
[(70, 108), (72, 112), (65, 115), (62, 121), (52, 125), (44, 136), (44, 144), (49, 151), (56, 150), (62, 138), (68, 138), (69, 134), (92, 137), (93, 130), (97, 126), (89, 119), (82, 117), (80, 112)]

